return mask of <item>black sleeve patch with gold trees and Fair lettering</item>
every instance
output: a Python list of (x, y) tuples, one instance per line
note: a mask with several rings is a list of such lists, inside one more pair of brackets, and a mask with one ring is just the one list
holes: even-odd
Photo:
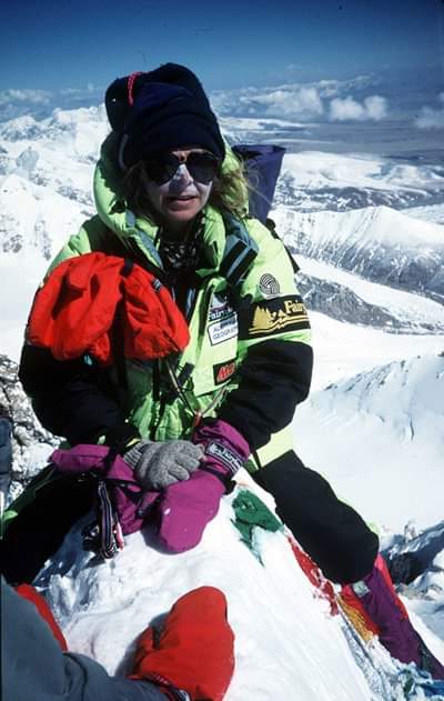
[(300, 294), (278, 297), (251, 304), (240, 316), (240, 339), (256, 339), (280, 331), (310, 329), (309, 317)]

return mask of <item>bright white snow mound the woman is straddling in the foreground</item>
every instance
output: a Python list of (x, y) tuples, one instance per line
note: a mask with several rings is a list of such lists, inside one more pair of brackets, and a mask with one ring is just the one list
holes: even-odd
[[(82, 553), (82, 523), (73, 529), (40, 577), (70, 649), (100, 660), (110, 673), (127, 674), (144, 628), (159, 624), (180, 595), (208, 584), (225, 593), (235, 632), (235, 674), (226, 701), (403, 699), (401, 685), (389, 695), (370, 689), (341, 617), (332, 617), (327, 602), (316, 597), (282, 533), (256, 529), (261, 560), (240, 541), (230, 501), (223, 500), (198, 548), (179, 555), (157, 551), (150, 533), (135, 533), (114, 560), (98, 562)], [(430, 648), (444, 659), (444, 642), (418, 623)], [(376, 640), (369, 654), (387, 679), (402, 667)]]

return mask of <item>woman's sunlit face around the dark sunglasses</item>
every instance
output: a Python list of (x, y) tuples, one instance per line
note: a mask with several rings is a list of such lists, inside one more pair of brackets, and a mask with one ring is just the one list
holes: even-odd
[[(172, 151), (181, 161), (190, 153), (203, 153), (203, 149), (181, 149)], [(205, 207), (212, 182), (194, 180), (186, 163), (182, 162), (171, 180), (158, 184), (148, 180), (148, 196), (151, 204), (161, 216), (170, 231), (181, 231)]]

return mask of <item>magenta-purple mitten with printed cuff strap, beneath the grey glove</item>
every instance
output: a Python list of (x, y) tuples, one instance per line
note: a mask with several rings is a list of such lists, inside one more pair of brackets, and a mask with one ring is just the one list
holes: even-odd
[(169, 552), (191, 550), (201, 541), (228, 481), (250, 454), (246, 441), (225, 421), (200, 427), (192, 440), (204, 447), (205, 463), (189, 480), (171, 484), (160, 504), (159, 539)]

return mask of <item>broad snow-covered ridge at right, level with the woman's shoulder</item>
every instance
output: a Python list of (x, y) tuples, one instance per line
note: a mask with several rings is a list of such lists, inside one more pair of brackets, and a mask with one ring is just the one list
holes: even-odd
[(444, 228), (387, 207), (349, 212), (273, 212), (294, 253), (374, 282), (444, 300)]

